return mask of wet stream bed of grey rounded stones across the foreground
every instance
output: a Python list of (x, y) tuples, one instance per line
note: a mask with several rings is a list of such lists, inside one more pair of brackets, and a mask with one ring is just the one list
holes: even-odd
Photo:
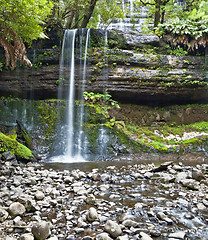
[(0, 239), (208, 239), (207, 171), (172, 161), (85, 171), (1, 160)]

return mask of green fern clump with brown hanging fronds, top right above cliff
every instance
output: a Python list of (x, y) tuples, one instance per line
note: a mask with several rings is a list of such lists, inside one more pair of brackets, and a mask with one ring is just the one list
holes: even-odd
[[(188, 8), (188, 6), (190, 6)], [(172, 49), (181, 46), (188, 51), (206, 48), (208, 42), (208, 1), (188, 1), (186, 8), (174, 9), (174, 5), (166, 6), (165, 11), (171, 21), (159, 24), (155, 32), (168, 42)], [(191, 9), (191, 10), (190, 10)], [(177, 52), (182, 55), (182, 51)]]

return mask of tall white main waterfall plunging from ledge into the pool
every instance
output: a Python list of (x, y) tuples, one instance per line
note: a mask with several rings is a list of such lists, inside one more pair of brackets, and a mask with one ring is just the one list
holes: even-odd
[[(56, 141), (55, 157), (52, 161), (80, 162), (85, 161), (85, 139), (83, 131), (84, 98), (87, 69), (87, 50), (90, 30), (66, 30), (63, 39), (58, 98), (67, 98), (67, 116), (65, 126), (60, 127), (59, 139)], [(85, 40), (85, 41), (84, 41)], [(76, 51), (78, 49), (78, 51)], [(79, 69), (77, 71), (75, 59), (79, 55)], [(82, 59), (84, 57), (84, 60)], [(78, 74), (76, 74), (78, 73)], [(79, 79), (75, 81), (75, 75)], [(68, 92), (66, 88), (68, 85)], [(79, 91), (77, 93), (77, 90)], [(76, 106), (78, 100), (79, 106)], [(61, 150), (60, 150), (61, 149)]]

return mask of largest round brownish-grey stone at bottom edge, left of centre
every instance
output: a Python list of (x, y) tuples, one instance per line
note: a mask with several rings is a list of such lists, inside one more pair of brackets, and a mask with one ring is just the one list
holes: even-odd
[(32, 233), (37, 240), (45, 240), (51, 234), (50, 223), (46, 221), (35, 223), (32, 227)]

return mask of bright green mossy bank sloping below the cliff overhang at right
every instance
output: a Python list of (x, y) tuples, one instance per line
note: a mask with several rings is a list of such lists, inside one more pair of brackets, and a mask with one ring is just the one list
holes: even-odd
[[(183, 141), (179, 140), (178, 137), (182, 137), (185, 132), (208, 133), (208, 122), (162, 127), (141, 127), (126, 123), (120, 125), (119, 129), (136, 142), (145, 146), (152, 147), (159, 151), (178, 151), (189, 145), (200, 144), (203, 140), (206, 140), (206, 135)], [(170, 135), (174, 135), (175, 138), (168, 140), (166, 137)]]

